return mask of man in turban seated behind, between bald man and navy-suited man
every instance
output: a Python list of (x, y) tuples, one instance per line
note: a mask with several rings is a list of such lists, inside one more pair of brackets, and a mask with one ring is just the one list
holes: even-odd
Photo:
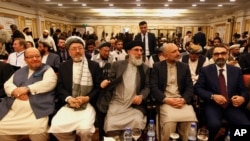
[(200, 45), (191, 44), (187, 51), (189, 54), (184, 55), (181, 61), (188, 64), (193, 84), (195, 84), (201, 68), (209, 65), (209, 60), (202, 55), (202, 48)]

